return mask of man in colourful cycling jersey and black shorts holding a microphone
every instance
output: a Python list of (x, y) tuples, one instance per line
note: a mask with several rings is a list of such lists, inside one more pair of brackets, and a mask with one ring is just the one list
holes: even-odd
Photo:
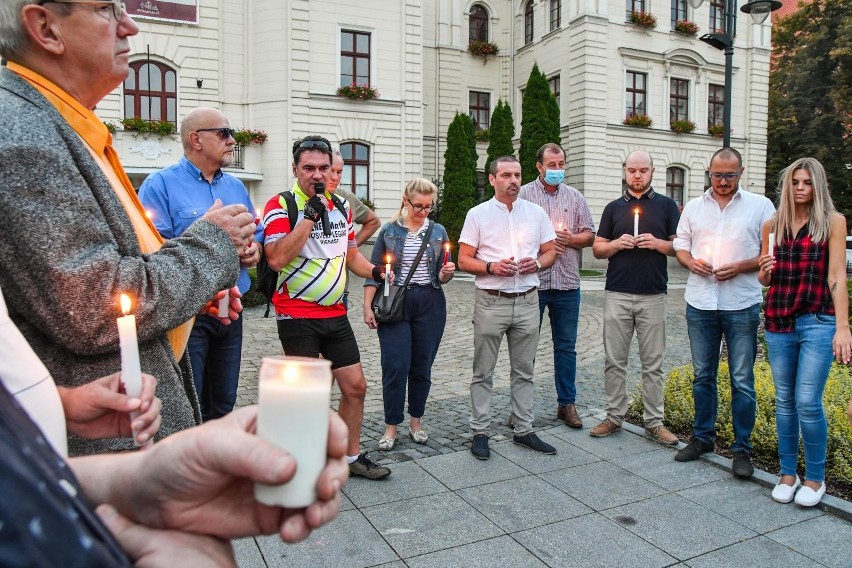
[(373, 266), (358, 250), (352, 212), (326, 188), (331, 164), (328, 140), (321, 136), (297, 140), (292, 189), (296, 219), (290, 218), (284, 196), (276, 195), (266, 204), (263, 250), (270, 268), (279, 271), (272, 305), (285, 354), (322, 355), (331, 361), (331, 374), (340, 387), (338, 414), (349, 427), (349, 474), (385, 479), (390, 469), (361, 453), (367, 380), (343, 304), (347, 269), (382, 281), (385, 267)]

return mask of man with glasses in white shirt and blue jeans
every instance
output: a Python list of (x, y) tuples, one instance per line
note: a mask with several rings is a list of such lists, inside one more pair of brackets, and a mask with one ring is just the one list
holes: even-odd
[(724, 336), (731, 375), (733, 472), (750, 477), (754, 473), (750, 438), (757, 411), (754, 358), (763, 299), (757, 259), (763, 223), (775, 208), (763, 195), (740, 187), (743, 171), (742, 156), (733, 148), (713, 154), (710, 189), (686, 204), (677, 227), (675, 253), (690, 272), (684, 299), (695, 371), (695, 420), (692, 441), (675, 459), (693, 461), (715, 447), (716, 376)]

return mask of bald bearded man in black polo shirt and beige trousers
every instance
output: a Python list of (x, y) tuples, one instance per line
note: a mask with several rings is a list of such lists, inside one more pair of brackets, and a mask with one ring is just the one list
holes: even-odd
[(633, 332), (642, 361), (645, 432), (675, 445), (677, 436), (663, 426), (663, 353), (666, 348), (666, 256), (680, 212), (677, 204), (651, 188), (654, 161), (637, 150), (624, 162), (627, 191), (604, 208), (592, 245), (595, 258), (609, 259), (604, 300), (604, 390), (606, 419), (592, 428), (596, 438), (621, 428), (627, 412), (627, 355)]

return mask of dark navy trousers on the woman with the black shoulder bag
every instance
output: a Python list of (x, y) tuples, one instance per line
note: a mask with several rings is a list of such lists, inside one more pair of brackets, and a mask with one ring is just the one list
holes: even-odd
[(402, 423), (406, 385), (408, 414), (423, 417), (432, 387), (432, 363), (446, 323), (444, 291), (428, 284), (406, 291), (401, 321), (379, 324), (385, 424)]

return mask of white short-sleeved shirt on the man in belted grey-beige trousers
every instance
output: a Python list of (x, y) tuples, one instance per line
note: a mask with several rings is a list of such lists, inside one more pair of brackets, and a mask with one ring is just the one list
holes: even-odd
[[(538, 258), (541, 245), (556, 238), (550, 218), (541, 206), (516, 199), (512, 210), (496, 198), (467, 212), (459, 242), (476, 249), (474, 258), (499, 262), (504, 258)], [(539, 285), (538, 272), (513, 277), (477, 274), (477, 288), (502, 292), (526, 292)]]

